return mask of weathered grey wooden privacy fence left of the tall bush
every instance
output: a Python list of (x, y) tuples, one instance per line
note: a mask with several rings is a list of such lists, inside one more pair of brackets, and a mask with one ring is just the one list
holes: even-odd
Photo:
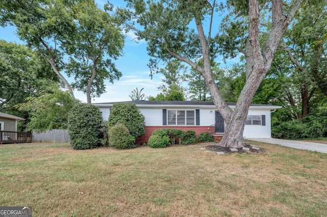
[(68, 143), (69, 135), (67, 129), (53, 129), (45, 132), (33, 132), (33, 143)]

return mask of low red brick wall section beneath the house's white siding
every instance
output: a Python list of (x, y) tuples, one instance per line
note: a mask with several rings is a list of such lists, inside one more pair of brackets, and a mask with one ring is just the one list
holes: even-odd
[[(148, 142), (152, 132), (156, 129), (162, 129), (162, 128), (175, 128), (183, 131), (194, 130), (196, 132), (196, 135), (199, 135), (201, 132), (209, 132), (211, 134), (213, 134), (212, 132), (215, 132), (215, 126), (146, 126), (145, 134), (141, 138), (138, 138), (135, 143), (141, 144), (141, 143)], [(218, 137), (217, 138), (215, 137), (215, 140), (218, 139), (219, 139)]]

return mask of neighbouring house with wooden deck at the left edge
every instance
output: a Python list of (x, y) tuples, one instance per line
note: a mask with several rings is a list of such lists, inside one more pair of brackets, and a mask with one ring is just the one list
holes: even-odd
[(0, 112), (0, 144), (31, 142), (31, 132), (17, 132), (17, 122), (24, 120), (24, 118)]

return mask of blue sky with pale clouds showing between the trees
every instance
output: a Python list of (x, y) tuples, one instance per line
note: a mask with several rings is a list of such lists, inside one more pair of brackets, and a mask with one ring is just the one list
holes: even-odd
[[(107, 1), (97, 0), (96, 2), (100, 8), (103, 8), (103, 5)], [(110, 2), (114, 6), (120, 7), (125, 4), (122, 0), (111, 0)], [(15, 32), (16, 29), (13, 26), (7, 26), (6, 28), (0, 27), (0, 39), (23, 44), (17, 38)], [(152, 79), (150, 78), (150, 70), (147, 66), (149, 62), (149, 56), (146, 50), (147, 44), (145, 41), (136, 43), (134, 39), (135, 35), (133, 33), (126, 34), (123, 56), (117, 61), (114, 61), (116, 68), (123, 73), (123, 76), (120, 80), (114, 80), (114, 84), (106, 81), (106, 93), (102, 94), (99, 98), (92, 98), (92, 103), (131, 100), (129, 95), (136, 88), (138, 90), (144, 88), (142, 93), (145, 93), (146, 96), (156, 96), (159, 93), (157, 87), (161, 85), (162, 75), (155, 74)], [(216, 61), (222, 62), (221, 58), (218, 58)], [(64, 76), (69, 83), (74, 81), (74, 78)], [(74, 95), (81, 101), (86, 102), (86, 95), (84, 93), (74, 91)]]

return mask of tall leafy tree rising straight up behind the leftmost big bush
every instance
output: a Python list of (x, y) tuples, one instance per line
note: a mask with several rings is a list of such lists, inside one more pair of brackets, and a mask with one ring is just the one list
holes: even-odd
[(110, 4), (103, 11), (93, 1), (82, 1), (73, 11), (76, 34), (65, 38), (70, 55), (66, 72), (75, 76), (73, 87), (86, 93), (87, 103), (91, 103), (91, 97), (105, 92), (105, 79), (113, 83), (122, 76), (111, 59), (122, 55), (124, 36), (119, 23), (110, 15)]

